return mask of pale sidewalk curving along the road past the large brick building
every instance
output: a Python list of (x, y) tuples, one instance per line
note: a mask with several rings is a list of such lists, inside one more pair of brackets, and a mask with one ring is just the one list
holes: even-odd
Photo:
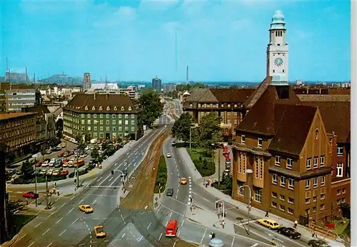
[[(198, 183), (198, 185), (201, 186), (201, 188), (204, 188), (206, 191), (208, 191), (208, 193), (211, 193), (212, 195), (214, 195), (218, 198), (222, 198), (227, 203), (231, 203), (233, 206), (237, 206), (238, 208), (246, 208), (248, 206), (246, 203), (233, 200), (233, 198), (231, 198), (231, 196), (228, 196), (228, 195), (222, 193), (221, 191), (219, 191), (218, 189), (216, 189), (214, 187), (208, 186), (206, 188), (206, 186), (203, 186), (203, 183), (202, 183), (203, 178), (202, 178), (201, 174), (199, 174), (198, 171), (196, 170), (196, 167), (194, 166), (193, 161), (191, 160), (191, 157), (189, 156), (188, 152), (186, 151), (186, 148), (178, 148), (178, 151), (180, 152), (181, 157), (183, 158), (183, 161), (184, 161), (186, 167), (188, 168), (188, 171), (192, 174), (193, 178), (196, 178), (195, 180)], [(199, 174), (199, 176), (197, 175), (197, 173)], [(193, 174), (195, 174), (195, 175), (193, 175)], [(265, 218), (265, 215), (266, 215), (265, 211), (262, 211), (258, 208), (251, 207), (251, 218)], [(269, 213), (268, 218), (271, 218), (272, 220), (277, 221), (278, 223), (281, 223), (283, 226), (293, 226), (293, 221), (289, 221), (286, 218), (276, 216), (273, 213)], [(306, 238), (312, 238), (312, 231), (310, 231), (310, 229), (308, 229), (305, 226), (298, 225), (297, 231), (300, 232), (301, 235), (305, 236)], [(342, 243), (325, 238), (324, 236), (318, 236), (318, 238), (328, 242), (333, 247), (343, 246)]]

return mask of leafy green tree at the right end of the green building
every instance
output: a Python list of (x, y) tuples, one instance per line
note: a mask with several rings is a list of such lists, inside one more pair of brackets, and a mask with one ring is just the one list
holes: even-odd
[(144, 125), (150, 128), (154, 121), (163, 113), (164, 104), (161, 103), (159, 94), (152, 89), (147, 89), (142, 92), (139, 98), (139, 104), (143, 109), (141, 120)]

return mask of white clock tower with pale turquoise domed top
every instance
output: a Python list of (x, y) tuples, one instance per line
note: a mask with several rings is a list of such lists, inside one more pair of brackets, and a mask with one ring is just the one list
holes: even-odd
[(266, 48), (266, 76), (279, 75), (288, 80), (288, 44), (286, 43), (285, 17), (275, 11), (269, 29), (269, 44)]

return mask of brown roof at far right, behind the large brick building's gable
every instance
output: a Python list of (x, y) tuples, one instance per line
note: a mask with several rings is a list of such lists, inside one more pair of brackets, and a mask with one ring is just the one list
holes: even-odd
[(348, 143), (351, 132), (351, 104), (346, 101), (337, 102), (303, 102), (304, 105), (318, 106), (327, 133), (333, 131), (337, 135), (338, 143)]

